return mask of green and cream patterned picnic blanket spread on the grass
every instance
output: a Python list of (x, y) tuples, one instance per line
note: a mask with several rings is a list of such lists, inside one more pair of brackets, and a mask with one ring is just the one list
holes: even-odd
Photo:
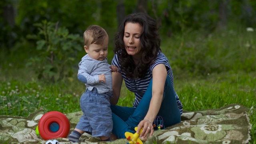
[[(251, 139), (248, 108), (230, 104), (219, 109), (184, 111), (182, 121), (164, 130), (155, 130), (144, 144), (246, 144)], [(4, 144), (45, 144), (35, 129), (44, 112), (39, 110), (27, 118), (0, 116), (0, 142)], [(72, 132), (82, 112), (66, 114)], [(60, 144), (70, 144), (68, 138), (56, 138)], [(80, 144), (126, 144), (125, 138), (101, 142), (98, 138), (83, 134)], [(78, 143), (74, 143), (78, 144)]]

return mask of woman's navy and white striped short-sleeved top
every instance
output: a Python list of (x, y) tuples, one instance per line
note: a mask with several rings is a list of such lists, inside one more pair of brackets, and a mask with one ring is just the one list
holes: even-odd
[[(121, 72), (124, 82), (126, 84), (126, 87), (128, 88), (128, 90), (130, 90), (131, 92), (134, 92), (134, 94), (135, 94), (135, 100), (133, 103), (133, 107), (137, 107), (138, 104), (140, 103), (140, 100), (142, 99), (144, 93), (146, 92), (146, 90), (148, 88), (148, 84), (152, 78), (152, 71), (153, 71), (154, 67), (158, 64), (164, 64), (166, 66), (167, 74), (170, 76), (170, 80), (171, 80), (172, 86), (173, 86), (174, 79), (173, 79), (173, 74), (172, 74), (172, 68), (169, 64), (168, 59), (162, 52), (158, 52), (156, 60), (155, 60), (154, 64), (150, 65), (146, 76), (144, 78), (138, 78), (138, 79), (127, 78), (125, 73), (120, 71), (121, 66), (118, 61), (118, 55), (117, 54), (114, 55), (114, 58), (112, 60), (112, 65), (118, 67), (118, 72)], [(174, 92), (175, 92), (175, 90), (174, 90)], [(177, 93), (176, 93), (176, 101), (177, 101), (178, 108), (180, 110), (180, 114), (182, 114), (182, 111), (183, 111), (182, 103), (180, 102), (180, 99), (179, 99)]]

